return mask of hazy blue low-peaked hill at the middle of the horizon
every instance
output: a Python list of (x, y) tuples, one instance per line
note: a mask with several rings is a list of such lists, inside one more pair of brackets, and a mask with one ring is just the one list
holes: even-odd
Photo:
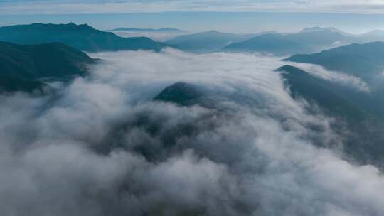
[(254, 34), (240, 35), (218, 31), (206, 31), (191, 35), (177, 36), (176, 38), (165, 41), (165, 43), (177, 45), (181, 50), (196, 53), (209, 53), (221, 50), (230, 43), (245, 41), (254, 36)]

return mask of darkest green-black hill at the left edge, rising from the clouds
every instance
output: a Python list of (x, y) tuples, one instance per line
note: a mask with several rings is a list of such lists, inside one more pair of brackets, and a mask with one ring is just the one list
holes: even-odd
[(62, 43), (17, 45), (0, 42), (0, 92), (43, 91), (43, 77), (85, 75), (96, 60)]

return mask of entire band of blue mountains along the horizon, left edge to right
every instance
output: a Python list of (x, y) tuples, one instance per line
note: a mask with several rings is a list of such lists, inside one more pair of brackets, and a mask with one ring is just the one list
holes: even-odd
[[(114, 33), (100, 31), (86, 24), (42, 24), (0, 27), (0, 41), (19, 44), (60, 42), (87, 52), (114, 50), (156, 50), (174, 47), (196, 53), (210, 53), (220, 50), (227, 52), (261, 52), (274, 55), (316, 53), (350, 43), (384, 41), (384, 31), (371, 31), (352, 35), (336, 28), (305, 28), (298, 33), (263, 32), (257, 34), (233, 34), (207, 31), (178, 36), (183, 31), (177, 28), (116, 28), (113, 31), (131, 32), (124, 38)], [(132, 34), (134, 33), (134, 34)], [(164, 43), (142, 37), (150, 34), (161, 38), (176, 36)], [(126, 36), (126, 35), (124, 35)]]

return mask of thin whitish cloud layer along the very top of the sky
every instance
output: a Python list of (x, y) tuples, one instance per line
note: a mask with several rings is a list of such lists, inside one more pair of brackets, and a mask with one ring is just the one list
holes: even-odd
[(384, 13), (380, 0), (0, 0), (1, 14), (133, 13), (163, 11), (272, 11)]

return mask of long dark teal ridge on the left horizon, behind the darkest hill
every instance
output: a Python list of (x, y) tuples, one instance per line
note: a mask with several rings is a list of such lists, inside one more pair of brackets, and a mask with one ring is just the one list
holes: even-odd
[(60, 42), (88, 52), (114, 50), (156, 50), (168, 45), (146, 37), (122, 38), (87, 24), (42, 24), (0, 27), (0, 41), (19, 44)]

